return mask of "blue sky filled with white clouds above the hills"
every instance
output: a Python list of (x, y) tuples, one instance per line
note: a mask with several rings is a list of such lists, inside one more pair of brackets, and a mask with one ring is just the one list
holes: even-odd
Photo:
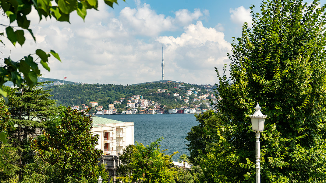
[[(323, 0), (326, 1), (326, 0)], [(240, 37), (250, 9), (259, 11), (260, 0), (118, 0), (114, 9), (98, 2), (87, 10), (85, 21), (75, 12), (68, 22), (54, 18), (31, 20), (36, 42), (25, 32), (23, 46), (5, 42), (1, 58), (18, 61), (36, 49), (57, 52), (51, 71), (43, 77), (80, 83), (130, 85), (162, 80), (162, 46), (165, 80), (190, 84), (215, 84), (215, 68), (229, 65), (232, 37)], [(9, 20), (0, 16), (2, 24)], [(3, 32), (5, 27), (0, 27)], [(2, 39), (5, 41), (5, 39)], [(39, 66), (41, 67), (41, 66)]]

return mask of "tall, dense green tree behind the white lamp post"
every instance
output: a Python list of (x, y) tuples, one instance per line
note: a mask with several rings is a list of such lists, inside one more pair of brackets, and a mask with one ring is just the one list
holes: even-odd
[[(251, 7), (253, 10), (254, 6)], [(325, 5), (317, 0), (263, 1), (229, 54), (230, 79), (219, 75), (223, 115), (200, 165), (210, 182), (254, 182), (250, 114), (268, 115), (261, 140), (262, 182), (326, 179)]]

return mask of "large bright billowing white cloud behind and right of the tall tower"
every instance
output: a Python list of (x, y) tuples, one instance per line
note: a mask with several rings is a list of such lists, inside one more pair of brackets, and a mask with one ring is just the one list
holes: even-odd
[(225, 63), (229, 63), (227, 52), (231, 46), (224, 40), (224, 33), (204, 27), (201, 21), (184, 29), (180, 37), (161, 36), (157, 39), (167, 47), (166, 78), (174, 73), (179, 81), (217, 82), (214, 67), (221, 70)]

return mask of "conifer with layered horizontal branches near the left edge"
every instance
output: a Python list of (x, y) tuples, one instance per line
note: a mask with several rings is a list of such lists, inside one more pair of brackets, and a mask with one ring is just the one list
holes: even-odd
[[(38, 83), (37, 86), (43, 84)], [(33, 161), (34, 157), (28, 138), (36, 135), (37, 130), (46, 128), (47, 120), (56, 115), (58, 110), (54, 106), (55, 100), (49, 99), (50, 91), (37, 86), (27, 86), (24, 81), (20, 88), (4, 87), (4, 91), (9, 94), (7, 107), (12, 124), (7, 129), (7, 137), (8, 143), (18, 150), (15, 155), (18, 157), (19, 180), (22, 180), (24, 165)]]

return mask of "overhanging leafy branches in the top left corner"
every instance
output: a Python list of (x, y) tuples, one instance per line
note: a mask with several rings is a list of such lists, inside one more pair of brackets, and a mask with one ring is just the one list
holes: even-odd
[[(113, 3), (117, 4), (117, 0), (104, 0), (104, 2), (112, 8)], [(52, 6), (52, 4), (55, 6)], [(32, 7), (37, 10), (40, 20), (42, 20), (43, 17), (54, 17), (58, 21), (69, 22), (71, 12), (76, 10), (77, 14), (84, 20), (87, 14), (87, 9), (97, 9), (97, 6), (97, 0), (58, 0), (55, 2), (54, 0), (39, 0), (37, 3), (35, 1), (0, 1), (0, 7), (10, 21), (9, 25), (1, 25), (6, 27), (6, 38), (14, 46), (16, 46), (17, 42), (18, 44), (23, 45), (25, 42), (24, 30), (26, 30), (26, 32), (28, 31), (34, 41), (36, 41), (32, 30), (29, 28), (30, 20), (27, 19)], [(13, 26), (12, 23), (14, 25), (17, 23), (18, 26)], [(4, 36), (4, 33), (0, 33), (0, 36)], [(5, 46), (1, 40), (0, 42)], [(49, 53), (46, 53), (41, 49), (35, 51), (37, 59), (40, 59), (41, 65), (48, 71), (50, 71), (50, 67), (48, 66), (48, 58), (51, 56), (50, 54), (54, 58), (60, 60), (59, 55), (53, 50)], [(7, 93), (3, 91), (2, 85), (7, 81), (12, 81), (14, 85), (20, 86), (23, 82), (21, 73), (29, 86), (37, 85), (37, 75), (40, 74), (40, 70), (36, 63), (37, 59), (34, 60), (32, 55), (34, 54), (25, 56), (23, 59), (18, 61), (13, 61), (10, 57), (4, 59), (6, 65), (0, 68), (0, 94), (4, 98), (7, 97)]]

